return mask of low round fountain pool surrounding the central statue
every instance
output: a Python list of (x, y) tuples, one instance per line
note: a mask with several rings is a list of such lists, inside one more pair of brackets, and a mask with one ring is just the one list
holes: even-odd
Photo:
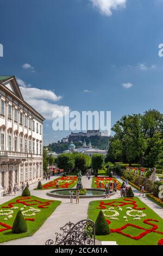
[[(47, 196), (50, 197), (57, 197), (57, 198), (70, 198), (70, 191), (76, 191), (76, 188), (67, 188), (61, 190), (52, 190), (47, 193)], [(110, 193), (110, 196), (115, 192)], [(98, 188), (86, 188), (86, 194), (81, 195), (80, 198), (104, 198), (105, 197), (105, 190), (98, 189)], [(74, 195), (74, 198), (76, 196)]]

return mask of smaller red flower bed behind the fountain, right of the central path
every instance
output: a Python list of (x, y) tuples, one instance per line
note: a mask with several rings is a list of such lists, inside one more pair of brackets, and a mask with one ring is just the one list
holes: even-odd
[(101, 181), (101, 188), (105, 188), (105, 183), (111, 181), (111, 182), (116, 182), (117, 183), (117, 190), (121, 190), (121, 183), (115, 179), (115, 178), (109, 178), (106, 176), (98, 176), (98, 177), (93, 177), (92, 179), (92, 187), (93, 188), (99, 188), (99, 181)]

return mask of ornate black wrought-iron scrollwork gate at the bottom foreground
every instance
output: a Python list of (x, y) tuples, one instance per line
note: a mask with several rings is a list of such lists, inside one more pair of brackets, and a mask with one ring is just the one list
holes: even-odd
[(68, 222), (60, 230), (62, 234), (55, 233), (55, 242), (49, 239), (46, 245), (95, 245), (95, 222), (91, 220)]

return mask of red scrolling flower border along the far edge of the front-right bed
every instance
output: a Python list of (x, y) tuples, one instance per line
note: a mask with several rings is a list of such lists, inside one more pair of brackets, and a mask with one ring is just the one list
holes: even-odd
[[(133, 205), (133, 209), (136, 209), (136, 210), (145, 210), (146, 208), (137, 208), (137, 204), (136, 204), (136, 201), (132, 198), (123, 198), (122, 199), (123, 201), (112, 201), (110, 203), (105, 203), (103, 201), (100, 201), (99, 203), (99, 207), (97, 207), (97, 209), (106, 209), (106, 206), (105, 205), (108, 205), (108, 206), (114, 206), (114, 207), (118, 207), (118, 206), (124, 206), (124, 205)], [(125, 202), (124, 202), (125, 201)], [(126, 203), (127, 202), (127, 203)]]

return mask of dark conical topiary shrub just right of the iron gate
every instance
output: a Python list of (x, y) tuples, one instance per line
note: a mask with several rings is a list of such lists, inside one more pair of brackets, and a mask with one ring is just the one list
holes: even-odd
[(105, 220), (102, 210), (99, 212), (96, 220), (96, 235), (108, 235), (110, 234), (109, 225)]

